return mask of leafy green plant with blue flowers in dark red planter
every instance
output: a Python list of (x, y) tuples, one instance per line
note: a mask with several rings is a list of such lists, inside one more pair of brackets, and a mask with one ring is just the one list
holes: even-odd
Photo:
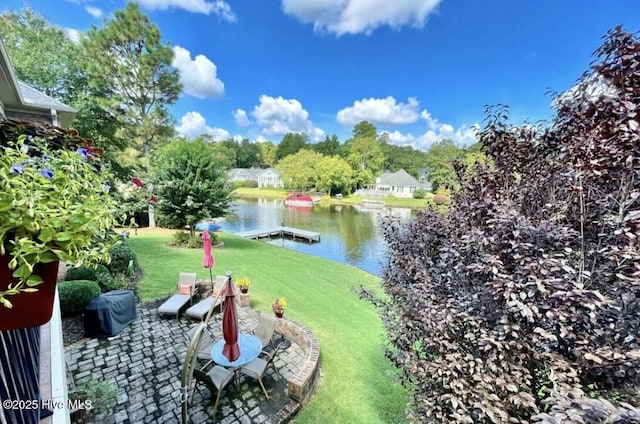
[(118, 236), (100, 153), (73, 130), (0, 122), (0, 331), (51, 318), (59, 261), (109, 262)]

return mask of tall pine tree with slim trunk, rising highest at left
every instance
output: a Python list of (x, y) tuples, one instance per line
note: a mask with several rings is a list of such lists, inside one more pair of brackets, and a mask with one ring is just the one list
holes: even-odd
[[(173, 135), (167, 107), (180, 94), (173, 50), (161, 44), (160, 30), (136, 3), (114, 13), (102, 28), (91, 28), (82, 43), (89, 57), (89, 84), (100, 104), (117, 117), (120, 136), (131, 141), (127, 159), (146, 178), (153, 148)], [(123, 158), (124, 159), (124, 158)], [(149, 207), (149, 225), (155, 226)]]

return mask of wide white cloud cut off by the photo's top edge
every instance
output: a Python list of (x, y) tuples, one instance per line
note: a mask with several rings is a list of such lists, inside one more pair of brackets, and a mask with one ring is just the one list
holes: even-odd
[(282, 0), (282, 10), (316, 31), (371, 34), (381, 26), (422, 28), (441, 0)]

